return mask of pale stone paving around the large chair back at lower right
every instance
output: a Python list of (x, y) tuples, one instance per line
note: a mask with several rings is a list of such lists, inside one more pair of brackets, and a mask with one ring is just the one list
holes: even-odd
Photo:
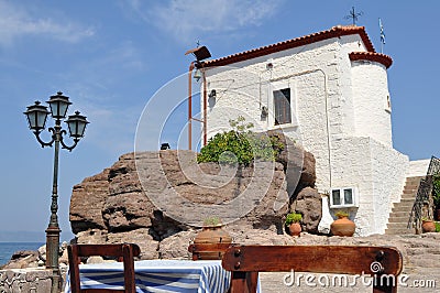
[[(424, 234), (424, 235), (403, 235), (387, 236), (375, 235), (370, 237), (318, 237), (312, 235), (304, 235), (297, 238), (298, 245), (384, 245), (397, 247), (404, 257), (404, 269), (400, 275), (406, 275), (403, 279), (404, 283), (398, 285), (398, 292), (421, 292), (421, 293), (440, 293), (440, 234)], [(327, 279), (323, 274), (302, 273), (299, 279), (299, 272), (295, 274), (295, 283), (286, 285), (284, 279), (286, 273), (261, 273), (261, 286), (264, 293), (280, 293), (280, 292), (373, 292), (372, 286), (364, 285), (362, 279), (358, 279), (354, 285), (353, 275), (346, 275), (349, 285), (332, 285), (333, 275), (329, 274), (329, 285), (326, 284)], [(305, 276), (312, 275), (310, 279), (312, 285), (307, 285)], [(311, 276), (309, 276), (311, 278)], [(339, 279), (336, 279), (339, 280)], [(287, 279), (287, 282), (292, 279)], [(369, 284), (369, 281), (364, 281)]]

